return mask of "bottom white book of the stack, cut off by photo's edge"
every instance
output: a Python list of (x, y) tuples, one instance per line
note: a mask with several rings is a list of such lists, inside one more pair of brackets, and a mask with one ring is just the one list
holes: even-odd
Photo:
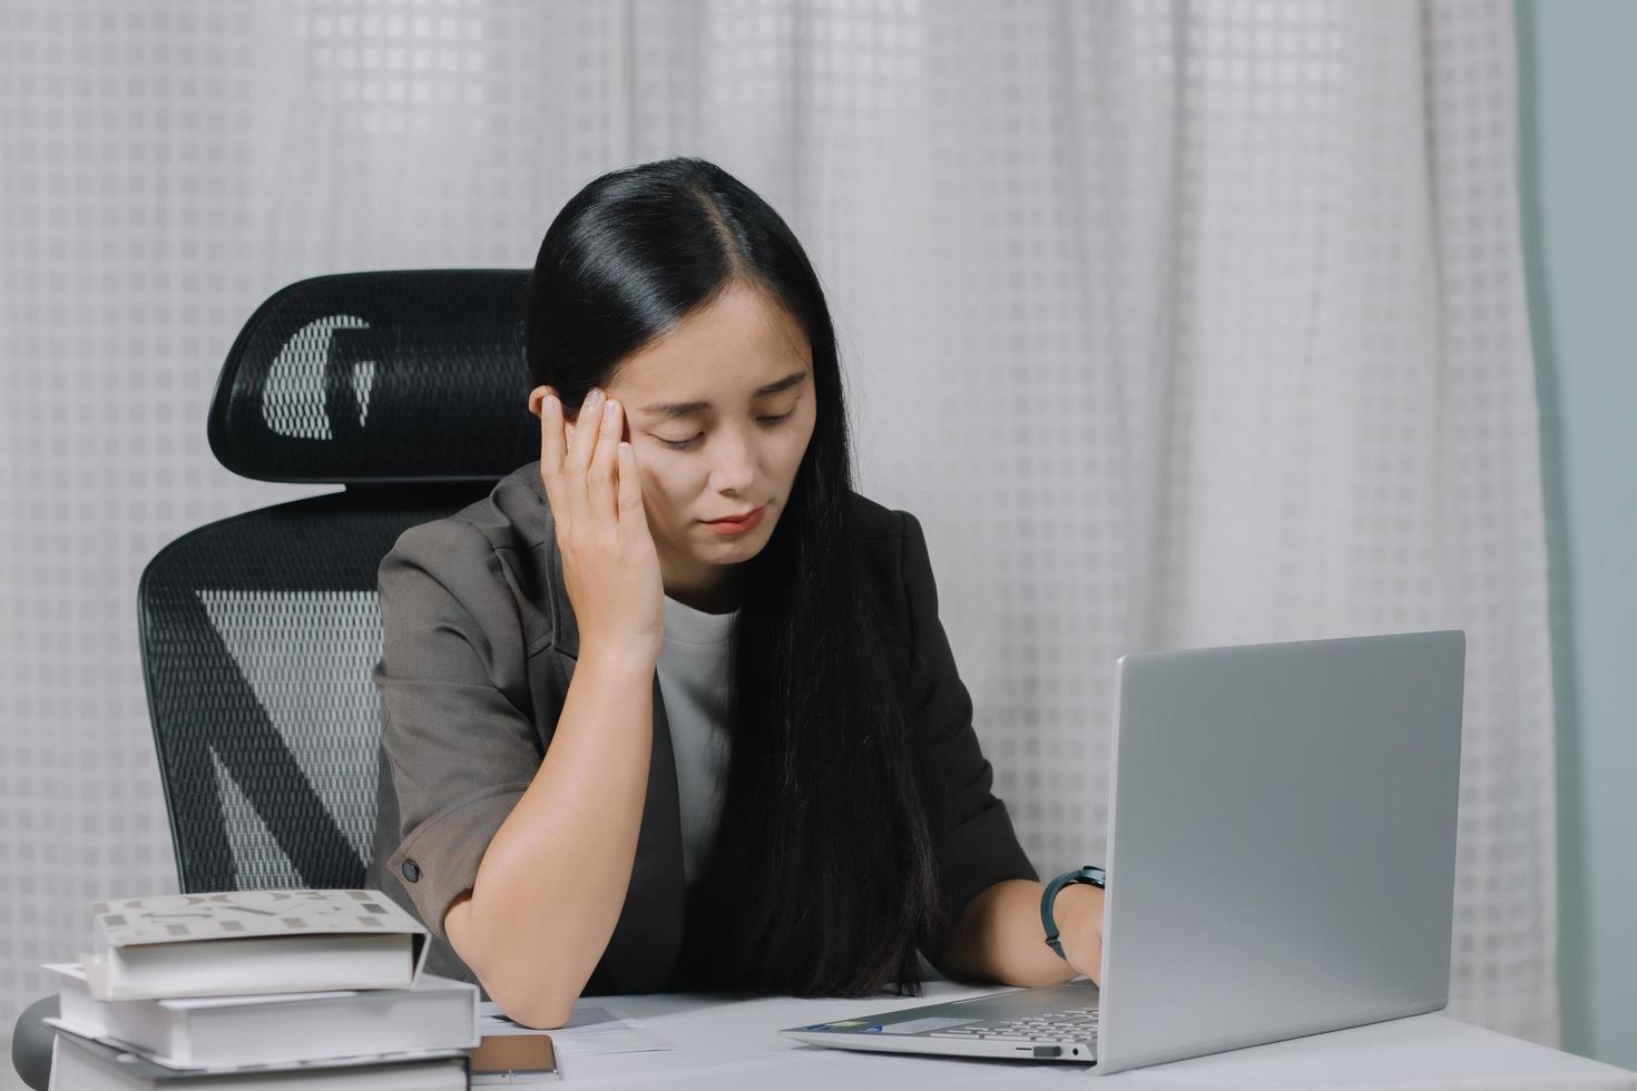
[(165, 1068), (103, 1042), (59, 1034), (51, 1091), (467, 1091), (467, 1053), (349, 1057), (319, 1065)]

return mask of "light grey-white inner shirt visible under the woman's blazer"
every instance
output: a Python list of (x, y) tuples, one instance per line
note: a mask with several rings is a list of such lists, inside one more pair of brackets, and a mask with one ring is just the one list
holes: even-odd
[(727, 779), (728, 638), (738, 610), (706, 613), (665, 597), (665, 646), (656, 671), (676, 754), (683, 875), (692, 887), (715, 842)]

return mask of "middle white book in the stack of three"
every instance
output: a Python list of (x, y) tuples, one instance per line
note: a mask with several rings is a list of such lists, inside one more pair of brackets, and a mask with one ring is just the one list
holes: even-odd
[(408, 990), (97, 999), (79, 963), (47, 963), (61, 1011), (46, 1022), (169, 1068), (450, 1050), (478, 1045), (478, 988), (422, 973)]

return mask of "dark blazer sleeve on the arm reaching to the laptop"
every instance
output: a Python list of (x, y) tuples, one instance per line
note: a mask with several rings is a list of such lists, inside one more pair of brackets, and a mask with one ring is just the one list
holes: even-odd
[(1003, 878), (1038, 880), (1018, 844), (1012, 818), (992, 788), (994, 769), (972, 730), (972, 698), (954, 667), (954, 653), (938, 620), (927, 535), (904, 517), (904, 592), (910, 620), (909, 708), (912, 730), (930, 759), (941, 795), (933, 836), (943, 872), (945, 909), (951, 924), (966, 905)]

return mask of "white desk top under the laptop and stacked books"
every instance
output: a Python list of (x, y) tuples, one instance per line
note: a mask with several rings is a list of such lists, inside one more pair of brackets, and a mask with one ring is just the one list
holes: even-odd
[[(635, 1019), (666, 1039), (668, 1052), (571, 1053), (561, 1086), (709, 1088), (804, 1091), (805, 1088), (974, 1088), (1084, 1081), (1095, 1070), (1012, 1060), (954, 1060), (858, 1053), (802, 1045), (778, 1034), (827, 1019), (913, 1008), (1003, 991), (928, 981), (925, 998), (725, 999), (710, 994), (588, 996), (579, 1008), (602, 1008)], [(1172, 1062), (1105, 1076), (1110, 1088), (1206, 1091), (1252, 1088), (1393, 1088), (1483, 1091), (1637, 1091), (1637, 1073), (1483, 1030), (1445, 1016), (1414, 1016), (1290, 1042)], [(1082, 1084), (1084, 1086), (1084, 1084)], [(1092, 1084), (1095, 1086), (1095, 1084)]]

